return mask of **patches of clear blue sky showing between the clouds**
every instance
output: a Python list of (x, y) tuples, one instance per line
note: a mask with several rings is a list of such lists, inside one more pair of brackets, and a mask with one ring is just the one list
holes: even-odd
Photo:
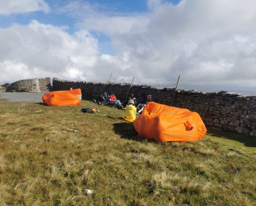
[[(22, 0), (21, 0), (22, 1)], [(69, 28), (66, 31), (72, 35), (78, 28), (74, 25), (76, 23), (75, 18), (70, 18), (66, 13), (59, 13), (57, 8), (63, 7), (72, 1), (64, 0), (45, 0), (45, 2), (51, 8), (49, 13), (44, 13), (43, 11), (34, 11), (29, 13), (22, 14), (10, 14), (10, 15), (0, 15), (0, 27), (7, 28), (10, 27), (13, 23), (18, 23), (20, 25), (28, 25), (32, 20), (37, 20), (42, 24), (51, 24), (54, 26), (64, 26), (67, 25)], [(99, 11), (108, 11), (108, 12), (118, 12), (118, 13), (143, 13), (147, 12), (147, 1), (146, 0), (89, 0), (84, 1), (89, 2), (91, 5), (100, 5), (98, 8)], [(179, 3), (179, 0), (169, 0), (168, 2), (176, 5)], [(101, 54), (115, 54), (111, 46), (111, 37), (100, 33), (97, 35), (96, 32), (92, 31), (92, 34), (99, 41), (99, 50)]]

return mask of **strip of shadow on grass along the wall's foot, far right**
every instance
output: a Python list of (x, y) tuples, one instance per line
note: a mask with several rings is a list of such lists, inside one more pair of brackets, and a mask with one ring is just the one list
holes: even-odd
[(256, 138), (247, 136), (245, 134), (237, 134), (232, 132), (225, 132), (207, 127), (207, 133), (210, 136), (216, 136), (217, 138), (223, 138), (228, 140), (234, 140), (243, 143), (247, 147), (256, 147)]

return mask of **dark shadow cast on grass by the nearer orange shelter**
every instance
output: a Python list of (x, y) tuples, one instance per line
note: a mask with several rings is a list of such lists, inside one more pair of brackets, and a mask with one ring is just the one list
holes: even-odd
[[(125, 121), (125, 120), (124, 120)], [(127, 140), (133, 140), (133, 141), (138, 141), (138, 142), (144, 142), (146, 141), (152, 141), (155, 142), (152, 139), (146, 139), (146, 138), (141, 138), (138, 136), (137, 131), (134, 129), (133, 124), (129, 122), (124, 122), (124, 123), (115, 123), (113, 124), (114, 126), (114, 132), (115, 134), (120, 135), (122, 139), (127, 139)]]

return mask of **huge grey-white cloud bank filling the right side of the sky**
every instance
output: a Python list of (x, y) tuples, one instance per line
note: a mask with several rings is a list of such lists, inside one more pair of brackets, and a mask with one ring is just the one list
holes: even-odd
[(159, 84), (181, 75), (181, 84), (201, 88), (256, 87), (256, 1), (149, 0), (147, 13), (126, 15), (86, 7), (93, 12), (72, 11), (77, 25), (111, 36), (118, 53), (108, 63), (122, 69), (117, 76)]

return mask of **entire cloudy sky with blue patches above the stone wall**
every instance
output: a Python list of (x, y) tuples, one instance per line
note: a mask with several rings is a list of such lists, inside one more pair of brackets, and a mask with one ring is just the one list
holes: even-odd
[(255, 0), (0, 0), (0, 85), (57, 77), (256, 93)]

